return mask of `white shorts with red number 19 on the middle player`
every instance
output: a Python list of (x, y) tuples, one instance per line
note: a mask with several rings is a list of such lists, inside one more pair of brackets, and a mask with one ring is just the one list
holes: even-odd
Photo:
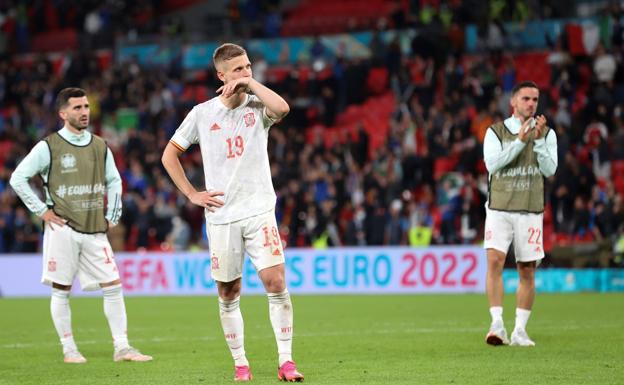
[(277, 231), (275, 210), (226, 224), (206, 224), (210, 247), (210, 271), (218, 282), (243, 275), (245, 251), (257, 271), (284, 263), (284, 249)]

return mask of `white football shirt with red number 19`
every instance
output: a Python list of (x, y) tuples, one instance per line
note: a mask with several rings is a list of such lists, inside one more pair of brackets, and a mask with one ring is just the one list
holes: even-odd
[(267, 153), (273, 123), (254, 95), (235, 109), (217, 96), (193, 107), (176, 130), (171, 142), (180, 150), (199, 143), (206, 190), (224, 192), (223, 207), (206, 210), (208, 223), (231, 223), (275, 207)]

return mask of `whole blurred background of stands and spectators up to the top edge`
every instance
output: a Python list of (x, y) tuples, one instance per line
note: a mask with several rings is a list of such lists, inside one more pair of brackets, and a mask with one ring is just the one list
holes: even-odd
[[(249, 50), (254, 77), (291, 106), (269, 144), (288, 247), (480, 243), (485, 131), (510, 115), (514, 84), (530, 79), (559, 144), (559, 168), (547, 183), (545, 248), (603, 245), (609, 263), (622, 264), (619, 2), (338, 3), (0, 1), (0, 252), (40, 249), (40, 222), (8, 180), (33, 145), (59, 128), (54, 99), (67, 86), (88, 91), (92, 131), (107, 140), (123, 178), (114, 248), (205, 248), (202, 209), (177, 191), (160, 157), (186, 113), (215, 95), (214, 70), (185, 69), (180, 57), (158, 65), (121, 60), (116, 50), (171, 39), (245, 46), (250, 38), (312, 36), (296, 61), (269, 63)], [(572, 18), (591, 18), (597, 29), (570, 23), (546, 47), (527, 50), (508, 27)], [(370, 55), (329, 54), (325, 36), (361, 31), (372, 33)], [(399, 32), (383, 38), (388, 31)], [(198, 146), (183, 165), (203, 186)], [(41, 187), (37, 178), (33, 187)]]

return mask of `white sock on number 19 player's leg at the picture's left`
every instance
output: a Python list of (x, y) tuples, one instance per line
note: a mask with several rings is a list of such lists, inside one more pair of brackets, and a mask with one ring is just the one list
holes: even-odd
[(249, 366), (249, 361), (245, 356), (245, 326), (240, 312), (240, 296), (231, 301), (219, 297), (219, 317), (234, 365)]

